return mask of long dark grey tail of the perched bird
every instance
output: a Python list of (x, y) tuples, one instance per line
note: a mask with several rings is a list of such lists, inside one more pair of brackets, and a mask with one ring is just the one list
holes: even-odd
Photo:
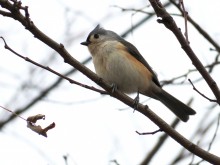
[(188, 107), (163, 89), (159, 93), (157, 93), (156, 99), (161, 101), (179, 119), (184, 122), (187, 122), (187, 120), (189, 119), (189, 115), (196, 114), (196, 112), (192, 108)]

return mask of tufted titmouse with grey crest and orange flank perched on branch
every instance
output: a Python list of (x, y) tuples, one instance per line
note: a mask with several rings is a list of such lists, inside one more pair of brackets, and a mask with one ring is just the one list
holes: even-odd
[(82, 45), (92, 54), (95, 71), (125, 93), (138, 92), (161, 101), (186, 122), (196, 112), (164, 91), (156, 74), (137, 48), (115, 32), (96, 26)]

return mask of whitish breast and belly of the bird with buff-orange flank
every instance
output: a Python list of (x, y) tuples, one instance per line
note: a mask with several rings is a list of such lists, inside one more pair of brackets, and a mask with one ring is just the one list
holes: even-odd
[(151, 72), (119, 42), (105, 42), (91, 54), (98, 76), (125, 93), (144, 93), (152, 83)]

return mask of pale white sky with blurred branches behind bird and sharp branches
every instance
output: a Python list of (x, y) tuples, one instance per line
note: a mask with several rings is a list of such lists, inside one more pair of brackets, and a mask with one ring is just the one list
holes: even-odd
[[(174, 5), (179, 1), (161, 2), (184, 33), (184, 18)], [(91, 56), (80, 43), (97, 24), (133, 43), (156, 71), (166, 91), (184, 103), (192, 100), (191, 107), (197, 114), (187, 123), (179, 122), (175, 129), (203, 149), (219, 155), (219, 106), (194, 91), (188, 79), (205, 96), (215, 97), (175, 36), (157, 23), (149, 1), (22, 0), (22, 5), (28, 6), (31, 20), (42, 32), (62, 43), (75, 59), (92, 71)], [(189, 16), (219, 44), (220, 2), (184, 0), (184, 5)], [(18, 21), (1, 16), (0, 25), (0, 36), (17, 53), (75, 81), (100, 88), (64, 63), (57, 52), (34, 38)], [(190, 22), (187, 27), (192, 49), (219, 85), (219, 51)], [(0, 59), (0, 105), (16, 113), (22, 112), (20, 115), (24, 118), (46, 115), (46, 120), (37, 123), (42, 127), (56, 123), (45, 138), (28, 129), (24, 120), (1, 108), (0, 164), (185, 165), (201, 160), (163, 132), (138, 135), (135, 131), (151, 132), (158, 127), (108, 95), (70, 84), (15, 56), (4, 48), (2, 40)], [(130, 96), (135, 98), (136, 95)], [(160, 102), (145, 96), (141, 96), (140, 102), (147, 104), (167, 123), (176, 120)], [(159, 143), (158, 149), (152, 152)]]

